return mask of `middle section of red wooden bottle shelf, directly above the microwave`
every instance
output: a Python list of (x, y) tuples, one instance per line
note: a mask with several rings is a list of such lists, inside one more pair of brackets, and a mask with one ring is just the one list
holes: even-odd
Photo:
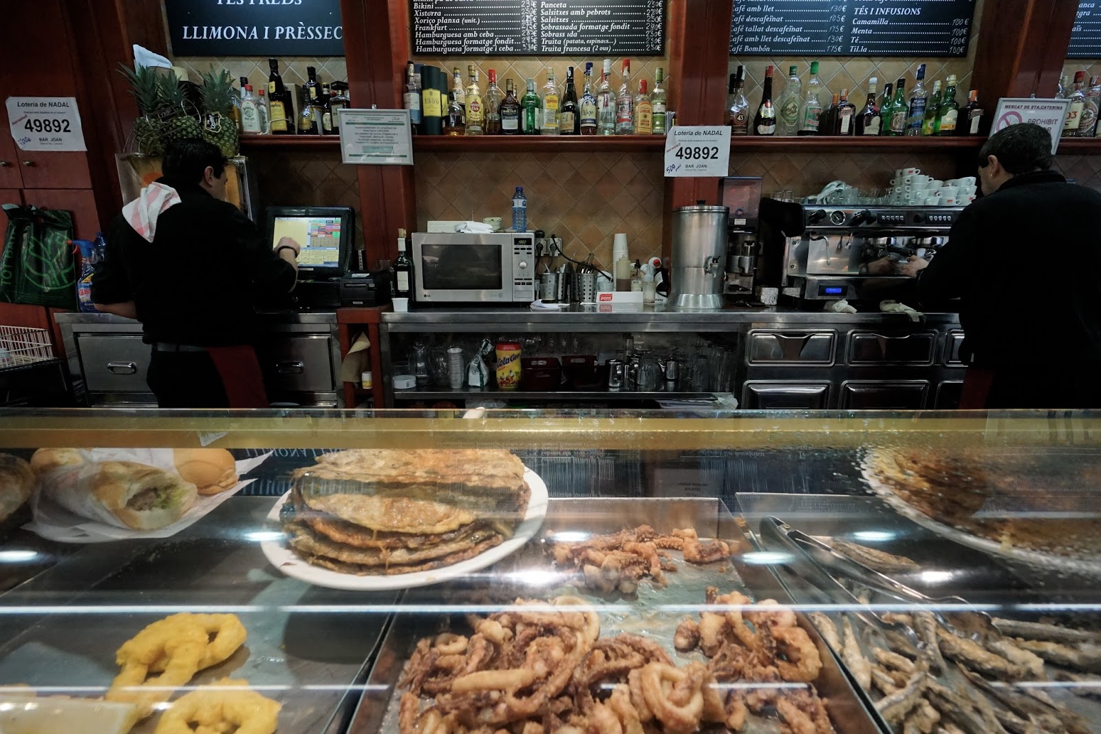
[(413, 150), (437, 153), (657, 153), (665, 150), (665, 136), (413, 136)]

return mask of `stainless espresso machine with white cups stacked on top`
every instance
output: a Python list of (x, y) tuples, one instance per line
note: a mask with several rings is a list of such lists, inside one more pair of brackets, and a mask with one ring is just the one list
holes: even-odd
[(948, 242), (958, 206), (860, 206), (761, 202), (759, 282), (796, 301), (891, 298), (904, 276), (876, 276), (870, 262), (931, 260)]

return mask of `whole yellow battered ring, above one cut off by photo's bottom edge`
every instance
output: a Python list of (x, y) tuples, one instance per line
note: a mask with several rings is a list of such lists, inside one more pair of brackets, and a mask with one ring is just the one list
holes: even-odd
[[(108, 701), (138, 705), (142, 719), (153, 711), (153, 704), (167, 701), (172, 689), (184, 686), (199, 670), (206, 655), (207, 633), (189, 619), (160, 619), (122, 644), (116, 662), (122, 667), (108, 689)], [(159, 676), (148, 678), (153, 665), (164, 661)]]

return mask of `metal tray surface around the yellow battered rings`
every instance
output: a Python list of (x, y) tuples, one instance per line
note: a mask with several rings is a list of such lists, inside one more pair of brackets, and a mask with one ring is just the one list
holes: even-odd
[[(397, 593), (331, 591), (280, 574), (260, 551), (271, 504), (233, 497), (170, 540), (85, 547), (0, 596), (9, 629), (0, 686), (97, 698), (118, 673), (116, 649), (146, 624), (232, 612), (248, 640), (190, 684), (243, 678), (283, 704), (281, 732), (342, 732)], [(132, 731), (148, 734), (156, 721)]]

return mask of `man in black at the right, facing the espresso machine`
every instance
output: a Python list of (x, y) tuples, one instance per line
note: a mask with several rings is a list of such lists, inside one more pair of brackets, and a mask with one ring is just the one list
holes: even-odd
[(984, 196), (931, 262), (902, 269), (923, 303), (961, 300), (961, 408), (1101, 408), (1101, 192), (1050, 168), (1044, 128), (991, 136), (979, 153)]

